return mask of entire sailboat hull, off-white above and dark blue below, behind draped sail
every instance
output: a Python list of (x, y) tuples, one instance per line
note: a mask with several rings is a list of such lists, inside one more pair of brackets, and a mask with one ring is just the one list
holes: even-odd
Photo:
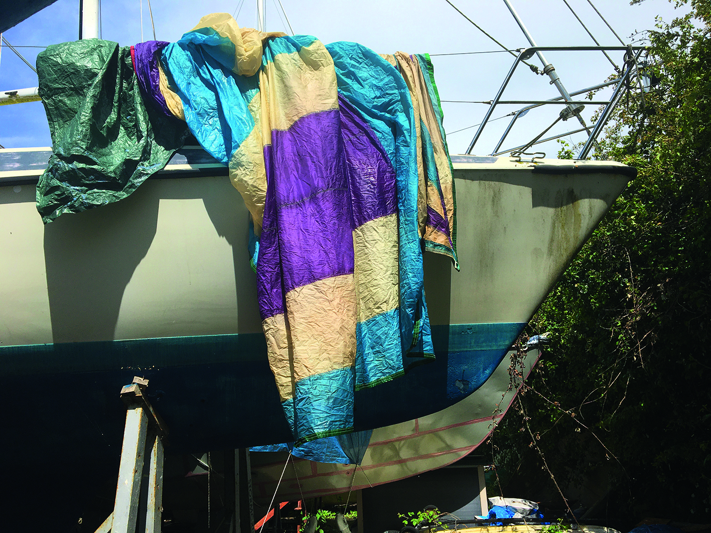
[[(426, 416), (486, 382), (634, 171), (453, 160), (461, 272), (425, 254), (437, 359), (356, 392), (357, 430)], [(0, 173), (3, 394), (28, 398), (58, 443), (97, 432), (119, 442), (117, 396), (134, 375), (151, 380), (175, 451), (291, 438), (261, 333), (247, 210), (224, 176), (184, 177), (216, 168), (183, 167), (47, 226), (30, 178)], [(52, 400), (68, 383), (91, 399), (80, 410)], [(10, 426), (26, 428), (26, 416), (16, 410)]]

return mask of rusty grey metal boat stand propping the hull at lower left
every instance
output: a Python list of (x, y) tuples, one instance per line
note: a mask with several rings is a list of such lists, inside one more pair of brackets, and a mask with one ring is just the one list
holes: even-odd
[(143, 394), (147, 386), (148, 379), (134, 377), (121, 389), (127, 411), (114, 512), (96, 533), (161, 532), (162, 439), (168, 431)]

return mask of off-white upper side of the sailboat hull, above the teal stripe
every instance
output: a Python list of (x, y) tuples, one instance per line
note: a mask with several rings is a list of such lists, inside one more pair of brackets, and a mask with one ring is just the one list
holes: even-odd
[[(454, 157), (461, 272), (425, 254), (430, 319), (525, 323), (628, 178), (606, 162), (549, 175), (469, 159)], [(247, 210), (228, 178), (149, 180), (46, 227), (34, 198), (0, 186), (0, 347), (261, 332)]]

